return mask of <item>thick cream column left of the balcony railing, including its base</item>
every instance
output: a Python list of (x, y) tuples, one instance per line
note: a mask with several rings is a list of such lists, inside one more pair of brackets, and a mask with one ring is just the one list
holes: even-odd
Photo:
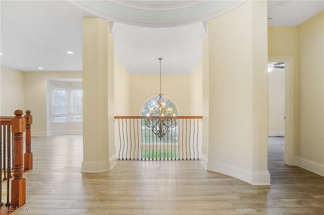
[(100, 173), (115, 164), (113, 72), (114, 41), (109, 22), (84, 18), (82, 172)]

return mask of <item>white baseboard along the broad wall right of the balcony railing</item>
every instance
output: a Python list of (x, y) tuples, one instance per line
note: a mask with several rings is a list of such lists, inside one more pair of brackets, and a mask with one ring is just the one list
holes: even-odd
[(251, 185), (271, 185), (269, 171), (249, 171), (225, 163), (208, 161), (207, 170), (224, 174)]

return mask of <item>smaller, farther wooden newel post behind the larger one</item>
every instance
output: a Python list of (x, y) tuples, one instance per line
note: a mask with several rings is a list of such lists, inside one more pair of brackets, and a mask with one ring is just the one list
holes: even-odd
[(32, 115), (30, 110), (26, 110), (24, 118), (26, 119), (26, 153), (24, 154), (24, 167), (25, 170), (32, 169), (32, 153), (31, 153), (31, 131), (30, 125), (32, 124)]

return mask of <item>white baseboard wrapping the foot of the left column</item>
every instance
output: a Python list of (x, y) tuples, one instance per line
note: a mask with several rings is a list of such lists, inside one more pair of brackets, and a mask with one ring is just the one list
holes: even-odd
[(81, 173), (103, 173), (109, 171), (116, 164), (115, 155), (104, 161), (83, 161)]

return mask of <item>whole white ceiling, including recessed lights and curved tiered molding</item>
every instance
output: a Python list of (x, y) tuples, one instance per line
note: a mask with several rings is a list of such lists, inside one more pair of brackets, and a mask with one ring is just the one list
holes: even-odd
[[(114, 22), (115, 57), (130, 73), (157, 73), (159, 57), (163, 73), (188, 73), (201, 57), (204, 21), (244, 3), (2, 0), (1, 65), (82, 71), (82, 20), (99, 16)], [(323, 1), (268, 1), (268, 24), (296, 26), (322, 10)]]

